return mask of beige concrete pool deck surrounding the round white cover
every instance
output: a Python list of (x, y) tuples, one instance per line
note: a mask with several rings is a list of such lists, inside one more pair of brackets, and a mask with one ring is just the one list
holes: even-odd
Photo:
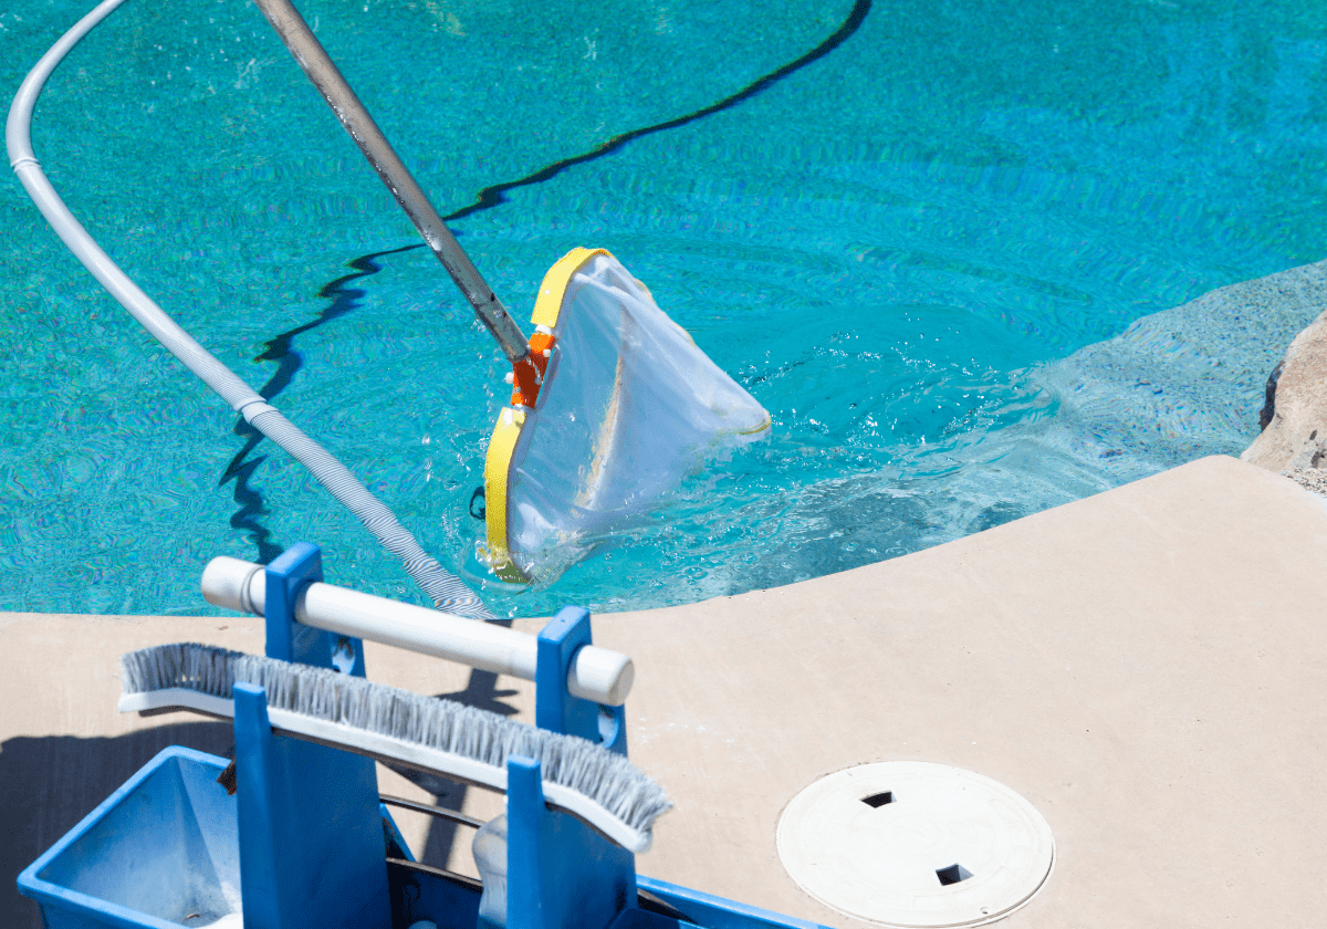
[[(1054, 873), (1003, 925), (1320, 925), (1323, 564), (1323, 498), (1214, 457), (845, 573), (596, 616), (596, 641), (636, 661), (632, 756), (677, 802), (640, 871), (867, 925), (788, 879), (780, 811), (832, 771), (930, 760), (1009, 786), (1055, 833)], [(0, 614), (4, 925), (40, 925), (15, 875), (159, 747), (230, 746), (222, 723), (114, 710), (117, 657), (180, 640), (261, 649), (245, 617)], [(525, 682), (366, 657), (374, 679), (531, 715)], [(402, 825), (417, 852), (449, 853), (450, 835)]]

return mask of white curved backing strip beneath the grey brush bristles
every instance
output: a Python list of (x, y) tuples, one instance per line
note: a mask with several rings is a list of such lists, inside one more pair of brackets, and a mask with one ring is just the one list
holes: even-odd
[[(224, 697), (188, 690), (187, 687), (149, 690), (138, 694), (123, 694), (119, 698), (121, 713), (142, 713), (145, 710), (194, 710), (208, 717), (234, 718), (235, 702)], [(430, 749), (417, 742), (406, 742), (390, 735), (369, 733), (338, 722), (317, 719), (307, 717), (303, 713), (292, 713), (291, 710), (271, 706), (267, 710), (267, 718), (272, 723), (273, 731), (321, 745), (333, 745), (378, 760), (401, 762), (410, 767), (456, 778), (502, 794), (507, 792), (507, 768), (486, 764), (474, 758), (466, 758), (450, 751), (439, 751), (438, 749)], [(544, 800), (549, 806), (559, 807), (583, 819), (610, 840), (636, 855), (649, 851), (654, 839), (653, 832), (633, 829), (608, 810), (571, 787), (555, 784), (551, 780), (543, 782), (543, 786)]]

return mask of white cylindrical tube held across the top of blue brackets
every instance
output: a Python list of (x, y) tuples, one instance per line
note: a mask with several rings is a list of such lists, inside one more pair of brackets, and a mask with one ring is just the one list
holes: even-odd
[[(263, 565), (224, 556), (212, 559), (203, 571), (203, 599), (214, 607), (263, 616), (267, 601)], [(300, 595), (295, 618), (338, 636), (535, 679), (536, 638), (515, 629), (321, 583), (311, 584)], [(567, 690), (581, 699), (621, 706), (634, 678), (636, 668), (625, 654), (587, 645), (572, 658)]]

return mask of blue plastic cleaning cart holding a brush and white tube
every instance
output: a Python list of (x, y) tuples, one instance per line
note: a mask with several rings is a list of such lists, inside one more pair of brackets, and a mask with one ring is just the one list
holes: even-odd
[[(387, 707), (398, 706), (391, 699), (414, 706), (414, 694), (387, 699), (372, 685), (361, 686), (362, 642), (346, 628), (345, 617), (353, 614), (357, 630), (409, 646), (418, 624), (402, 621), (398, 604), (322, 584), (313, 545), (295, 545), (265, 568), (230, 567), (239, 571), (236, 589), (244, 593), (245, 609), (265, 616), (268, 657), (260, 661), (268, 662), (264, 673), (277, 687), (271, 693), (312, 687), (308, 693), (322, 694), (317, 706), (337, 705), (330, 694), (354, 694), (361, 702), (384, 699)], [(210, 571), (214, 579), (219, 576), (215, 563)], [(235, 587), (223, 581), (220, 587)], [(314, 595), (341, 601), (353, 596), (356, 609), (328, 609), (338, 617), (340, 628), (316, 628)], [(443, 625), (418, 633), (427, 645), (418, 650), (468, 664), (475, 649), (443, 641)], [(455, 637), (468, 642), (476, 629), (484, 628), (466, 622)], [(304, 717), (284, 703), (271, 706), (268, 690), (248, 678), (227, 677), (238, 674), (227, 662), (247, 661), (245, 656), (169, 645), (126, 657), (126, 693), (134, 677), (129, 669), (138, 669), (138, 674), (147, 668), (135, 661), (147, 662), (145, 653), (150, 653), (161, 662), (153, 665), (157, 690), (133, 690), (129, 710), (149, 706), (151, 701), (141, 698), (153, 693), (171, 701), (182, 699), (178, 691), (203, 693), (206, 687), (203, 687), (199, 681), (206, 677), (212, 681), (207, 685), (212, 687), (206, 694), (212, 701), (208, 706), (227, 703), (223, 715), (234, 714), (234, 767), (224, 758), (166, 749), (27, 868), (19, 876), (19, 889), (41, 905), (46, 929), (817, 929), (811, 922), (637, 877), (633, 849), (648, 847), (648, 841), (626, 841), (593, 816), (587, 818), (579, 806), (559, 800), (557, 791), (569, 791), (571, 782), (553, 779), (556, 764), (581, 772), (600, 770), (593, 766), (597, 760), (592, 764), (588, 755), (576, 754), (583, 751), (583, 741), (589, 741), (598, 746), (592, 751), (610, 759), (602, 776), (622, 778), (618, 802), (645, 804), (634, 808), (638, 815), (645, 815), (642, 810), (650, 816), (662, 812), (650, 806), (666, 803), (661, 792), (652, 792), (658, 791), (653, 782), (641, 772), (624, 775), (630, 766), (620, 699), (630, 683), (629, 660), (593, 645), (591, 617), (581, 608), (563, 609), (537, 638), (525, 637), (532, 640), (528, 642), (502, 632), (503, 644), (514, 645), (510, 652), (527, 656), (520, 666), (535, 679), (537, 727), (484, 722), (479, 713), (455, 718), (464, 719), (472, 741), (510, 737), (516, 739), (512, 745), (557, 745), (557, 751), (540, 749), (543, 760), (510, 751), (504, 762), (484, 762), (502, 775), (487, 780), (466, 778), (464, 772), (479, 763), (475, 759), (434, 752), (451, 762), (429, 762), (433, 756), (426, 758), (422, 750), (411, 755), (413, 766), (504, 792), (504, 816), (487, 824), (468, 820), (479, 827), (475, 863), (482, 881), (411, 860), (378, 796), (370, 760), (377, 756), (374, 739), (385, 737), (356, 727), (342, 710), (322, 718)], [(484, 649), (478, 654), (478, 661), (490, 660)], [(190, 664), (192, 660), (202, 664)], [(605, 668), (606, 674), (601, 673)], [(609, 702), (601, 702), (605, 698)], [(122, 709), (125, 699), (129, 697), (122, 698)], [(167, 705), (190, 706), (187, 701)], [(292, 719), (303, 722), (297, 726)], [(508, 733), (503, 726), (527, 731)], [(328, 735), (328, 729), (336, 733)], [(309, 737), (314, 730), (321, 737)], [(549, 743), (549, 733), (563, 742)], [(602, 786), (594, 780), (576, 790)], [(425, 812), (442, 815), (431, 808)], [(629, 810), (624, 806), (613, 815), (625, 816)], [(645, 829), (648, 837), (653, 819), (640, 822), (644, 824), (632, 828)]]

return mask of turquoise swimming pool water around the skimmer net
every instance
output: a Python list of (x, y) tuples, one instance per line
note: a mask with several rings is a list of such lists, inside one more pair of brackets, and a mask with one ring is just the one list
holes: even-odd
[[(301, 9), (453, 212), (739, 93), (855, 7)], [(3, 86), (82, 12), (23, 0), (0, 13)], [(1242, 434), (1103, 458), (1079, 454), (1072, 431), (1047, 450), (1036, 430), (1062, 415), (1066, 365), (1093, 364), (1080, 349), (1323, 257), (1319, 4), (917, 0), (876, 4), (849, 33), (734, 106), (454, 222), (519, 313), (569, 247), (610, 248), (775, 425), (552, 588), (490, 589), (498, 612), (788, 583), (1238, 453), (1255, 434), (1249, 418)], [(252, 7), (129, 0), (56, 72), (33, 139), (158, 303), (252, 384), (275, 377), (277, 406), (467, 569), (500, 356), (431, 256), (407, 248), (406, 222)], [(265, 443), (245, 451), (234, 414), (162, 357), (12, 182), (0, 215), (13, 358), (0, 608), (198, 612), (208, 557), (299, 539), (324, 545), (333, 580), (419, 599), (297, 466)], [(1262, 350), (1274, 362), (1282, 346)], [(1257, 410), (1249, 389), (1231, 410)]]

